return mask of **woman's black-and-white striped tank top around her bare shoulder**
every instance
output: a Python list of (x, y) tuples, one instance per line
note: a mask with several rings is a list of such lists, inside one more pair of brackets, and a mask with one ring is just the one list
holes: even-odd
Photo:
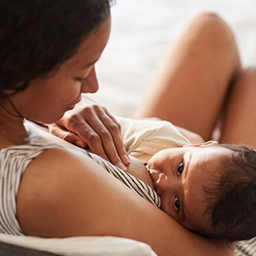
[(29, 163), (49, 148), (73, 148), (73, 150), (83, 152), (111, 175), (125, 183), (127, 187), (136, 191), (138, 195), (141, 195), (144, 199), (154, 204), (154, 206), (160, 207), (160, 197), (154, 189), (151, 189), (146, 183), (113, 166), (96, 154), (90, 154), (80, 148), (54, 143), (12, 146), (0, 150), (0, 189), (2, 191), (0, 201), (0, 233), (24, 235), (16, 218), (16, 195), (20, 185), (20, 178)]

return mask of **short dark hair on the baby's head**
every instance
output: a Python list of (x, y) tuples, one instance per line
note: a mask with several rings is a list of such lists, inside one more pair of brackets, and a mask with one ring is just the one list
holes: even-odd
[[(210, 237), (228, 241), (256, 236), (256, 151), (245, 145), (219, 144), (232, 151), (218, 165), (219, 176), (207, 188), (212, 218)], [(207, 234), (209, 236), (209, 234)]]

